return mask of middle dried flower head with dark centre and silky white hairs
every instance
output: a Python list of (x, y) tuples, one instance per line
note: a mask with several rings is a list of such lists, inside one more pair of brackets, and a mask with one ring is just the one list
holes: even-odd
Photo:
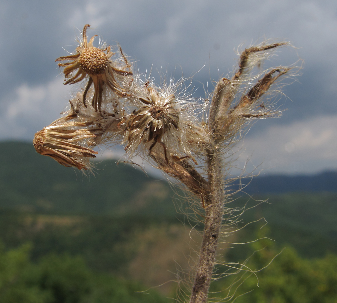
[[(167, 150), (175, 150), (177, 156), (190, 156), (191, 142), (205, 132), (197, 119), (202, 112), (200, 99), (193, 98), (189, 91), (190, 79), (162, 80), (158, 85), (152, 79), (144, 80), (143, 75), (134, 75), (132, 96), (126, 98), (124, 107), (129, 114), (123, 144), (131, 157), (148, 153), (156, 144), (154, 140), (161, 141)], [(157, 116), (155, 110), (160, 112)]]

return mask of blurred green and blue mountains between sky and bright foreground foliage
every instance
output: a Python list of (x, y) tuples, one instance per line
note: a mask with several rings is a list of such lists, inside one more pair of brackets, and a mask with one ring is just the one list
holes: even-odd
[[(85, 176), (39, 155), (31, 143), (0, 142), (0, 157), (0, 239), (6, 247), (29, 241), (34, 260), (48, 253), (80, 254), (99, 271), (133, 279), (143, 280), (135, 273), (149, 270), (149, 286), (169, 279), (150, 272), (172, 272), (172, 256), (188, 255), (188, 219), (176, 210), (188, 205), (167, 182), (114, 160), (96, 163), (95, 175)], [(337, 253), (336, 179), (332, 172), (253, 178), (244, 189), (253, 199), (241, 193), (231, 202), (239, 209), (258, 204), (240, 218), (243, 224), (256, 222), (242, 229), (240, 242), (254, 238), (267, 220), (268, 236), (280, 247), (291, 244), (305, 257)], [(227, 251), (227, 258), (240, 256), (234, 252)], [(140, 264), (144, 268), (136, 269)], [(163, 270), (152, 270), (151, 264), (162, 264)]]

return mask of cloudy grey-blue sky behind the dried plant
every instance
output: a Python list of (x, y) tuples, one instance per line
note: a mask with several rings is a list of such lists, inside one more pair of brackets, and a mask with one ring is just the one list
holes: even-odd
[(74, 51), (85, 24), (89, 37), (118, 42), (142, 73), (193, 75), (198, 97), (201, 83), (211, 87), (233, 70), (238, 47), (291, 42), (267, 65), (301, 59), (302, 75), (283, 89), (282, 116), (252, 126), (234, 165), (263, 174), (337, 169), (336, 1), (0, 1), (1, 141), (31, 142), (67, 106), (74, 89), (55, 59)]

